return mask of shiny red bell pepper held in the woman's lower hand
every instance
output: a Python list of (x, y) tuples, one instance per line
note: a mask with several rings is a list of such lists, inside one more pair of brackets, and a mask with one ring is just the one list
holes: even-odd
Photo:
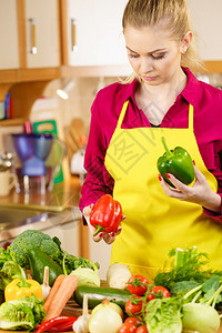
[(113, 232), (122, 220), (122, 206), (110, 194), (102, 195), (94, 204), (90, 214), (90, 224), (97, 228), (93, 235), (100, 231)]

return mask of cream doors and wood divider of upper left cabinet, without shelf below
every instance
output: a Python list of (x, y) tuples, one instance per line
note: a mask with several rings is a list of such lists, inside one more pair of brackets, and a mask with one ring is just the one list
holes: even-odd
[(0, 70), (60, 65), (59, 0), (0, 0)]

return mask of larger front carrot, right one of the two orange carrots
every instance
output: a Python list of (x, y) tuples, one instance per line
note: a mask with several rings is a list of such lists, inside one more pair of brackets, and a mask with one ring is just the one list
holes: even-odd
[(51, 305), (43, 322), (47, 322), (52, 317), (59, 316), (61, 314), (64, 305), (75, 291), (77, 285), (78, 278), (75, 275), (67, 275), (64, 278), (54, 297), (52, 299)]

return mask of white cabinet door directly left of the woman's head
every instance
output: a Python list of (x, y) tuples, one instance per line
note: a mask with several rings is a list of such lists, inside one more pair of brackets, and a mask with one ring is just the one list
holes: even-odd
[(127, 64), (122, 13), (127, 0), (69, 0), (70, 65)]

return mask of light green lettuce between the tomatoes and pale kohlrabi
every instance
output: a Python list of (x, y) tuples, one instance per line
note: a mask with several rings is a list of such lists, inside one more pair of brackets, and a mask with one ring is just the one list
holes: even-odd
[(145, 324), (149, 333), (181, 333), (181, 297), (151, 300), (145, 307)]

